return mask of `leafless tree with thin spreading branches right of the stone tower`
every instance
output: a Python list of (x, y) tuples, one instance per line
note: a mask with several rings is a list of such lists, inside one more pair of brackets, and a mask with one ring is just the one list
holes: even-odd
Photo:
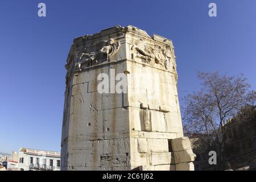
[(198, 73), (202, 81), (199, 92), (183, 98), (184, 131), (201, 134), (204, 144), (214, 146), (218, 164), (224, 160), (222, 150), (226, 140), (225, 122), (247, 104), (254, 105), (255, 92), (243, 75), (221, 76), (218, 72)]

